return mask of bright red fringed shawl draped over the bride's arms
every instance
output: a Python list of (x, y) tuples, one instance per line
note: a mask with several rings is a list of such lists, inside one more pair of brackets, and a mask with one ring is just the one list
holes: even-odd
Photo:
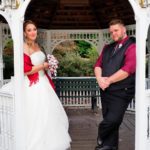
[[(24, 53), (24, 73), (31, 71), (33, 66), (34, 65), (32, 64), (30, 57)], [(55, 90), (55, 85), (54, 85), (52, 79), (48, 76), (48, 74), (46, 72), (45, 72), (45, 74), (46, 74), (51, 86)], [(30, 80), (29, 86), (31, 86), (32, 84), (36, 84), (39, 81), (38, 72), (34, 73), (34, 74), (27, 75), (27, 77)]]

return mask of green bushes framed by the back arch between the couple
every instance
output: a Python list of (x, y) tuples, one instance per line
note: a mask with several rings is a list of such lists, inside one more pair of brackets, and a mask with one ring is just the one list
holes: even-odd
[[(96, 48), (92, 47), (89, 43), (78, 43), (82, 45), (80, 46), (80, 50), (54, 50), (53, 55), (59, 61), (58, 76), (94, 76), (93, 66), (98, 58), (98, 52)], [(84, 51), (85, 49), (88, 49), (88, 51)]]

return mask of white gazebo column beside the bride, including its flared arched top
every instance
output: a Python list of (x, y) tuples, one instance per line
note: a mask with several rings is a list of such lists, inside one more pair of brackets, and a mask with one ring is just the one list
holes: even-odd
[[(7, 2), (7, 3), (6, 3)], [(26, 150), (23, 96), (23, 20), (30, 0), (2, 0), (0, 14), (7, 20), (14, 43), (15, 150)], [(7, 5), (6, 5), (7, 4)], [(15, 7), (16, 6), (16, 7)]]

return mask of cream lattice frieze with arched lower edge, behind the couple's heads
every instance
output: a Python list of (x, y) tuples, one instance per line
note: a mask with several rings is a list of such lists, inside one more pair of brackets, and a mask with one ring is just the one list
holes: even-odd
[[(135, 25), (127, 25), (127, 34), (135, 36)], [(108, 29), (102, 30), (45, 30), (39, 29), (38, 41), (48, 53), (57, 45), (68, 40), (84, 40), (91, 43), (100, 52), (105, 44), (111, 42)]]

